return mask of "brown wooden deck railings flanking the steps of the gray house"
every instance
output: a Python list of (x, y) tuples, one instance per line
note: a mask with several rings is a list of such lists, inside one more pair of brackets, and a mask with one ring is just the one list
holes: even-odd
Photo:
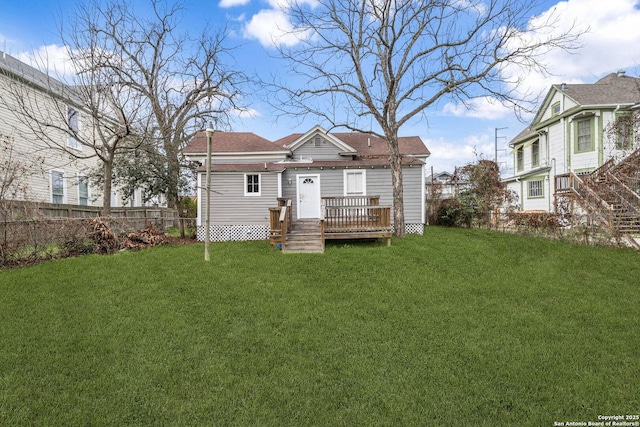
[[(296, 222), (290, 199), (279, 199), (278, 205), (269, 209), (269, 240), (287, 251)], [(380, 206), (380, 196), (323, 197), (321, 212), (318, 224), (323, 249), (324, 241), (332, 239), (386, 239), (391, 245), (391, 206)]]

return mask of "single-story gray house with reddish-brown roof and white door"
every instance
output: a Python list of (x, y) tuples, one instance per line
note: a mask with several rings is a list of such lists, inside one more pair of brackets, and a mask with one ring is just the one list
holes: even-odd
[[(406, 231), (422, 233), (425, 217), (424, 161), (429, 150), (419, 137), (401, 137)], [(183, 150), (206, 164), (207, 135), (200, 132)], [(289, 200), (292, 220), (319, 219), (329, 198), (379, 196), (393, 204), (387, 143), (362, 133), (327, 132), (315, 126), (304, 134), (269, 141), (253, 133), (215, 132), (211, 158), (212, 240), (269, 237), (270, 208)], [(204, 201), (205, 167), (198, 174)], [(373, 198), (372, 198), (373, 200)], [(198, 208), (198, 237), (204, 236), (205, 204)], [(333, 202), (329, 202), (333, 203)], [(364, 211), (361, 207), (353, 212)], [(352, 213), (353, 213), (352, 212)]]

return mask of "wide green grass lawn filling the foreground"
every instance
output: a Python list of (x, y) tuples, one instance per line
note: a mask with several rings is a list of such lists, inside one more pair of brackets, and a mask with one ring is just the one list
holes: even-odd
[(0, 271), (0, 425), (546, 426), (640, 411), (633, 251), (428, 228)]

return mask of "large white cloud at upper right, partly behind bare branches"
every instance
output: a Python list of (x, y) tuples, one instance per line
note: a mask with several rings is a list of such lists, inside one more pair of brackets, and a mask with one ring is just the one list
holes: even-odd
[[(570, 31), (585, 31), (576, 50), (555, 49), (545, 53), (541, 60), (551, 75), (544, 75), (529, 69), (509, 66), (503, 76), (518, 81), (514, 89), (521, 95), (538, 96), (538, 102), (546, 95), (552, 84), (593, 83), (603, 75), (619, 69), (640, 68), (640, 52), (634, 46), (640, 45), (640, 9), (638, 0), (568, 0), (560, 1), (548, 10), (530, 20), (531, 27), (553, 22), (552, 32), (561, 34)], [(549, 29), (547, 29), (549, 30)], [(519, 40), (532, 40), (549, 36), (549, 31), (530, 34)], [(632, 73), (630, 73), (632, 74)], [(513, 116), (513, 111), (489, 98), (478, 98), (463, 105), (446, 104), (443, 113), (456, 117), (472, 117), (485, 120), (503, 119)], [(537, 108), (538, 105), (525, 105)], [(532, 118), (532, 115), (525, 117)]]

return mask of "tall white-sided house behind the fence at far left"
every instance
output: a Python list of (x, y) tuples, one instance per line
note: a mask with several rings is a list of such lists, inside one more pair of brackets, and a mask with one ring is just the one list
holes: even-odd
[[(90, 171), (100, 166), (92, 150), (62, 130), (28, 125), (36, 121), (25, 119), (17, 104), (27, 103), (35, 114), (61, 126), (68, 124), (78, 132), (90, 132), (89, 113), (73, 93), (70, 86), (0, 52), (0, 164), (6, 168), (11, 163), (23, 171), (19, 178), (24, 190), (10, 191), (0, 198), (102, 206), (102, 189), (88, 178)], [(57, 141), (57, 146), (51, 140)], [(123, 202), (114, 188), (111, 204), (140, 206), (141, 200), (138, 194), (135, 200)]]

